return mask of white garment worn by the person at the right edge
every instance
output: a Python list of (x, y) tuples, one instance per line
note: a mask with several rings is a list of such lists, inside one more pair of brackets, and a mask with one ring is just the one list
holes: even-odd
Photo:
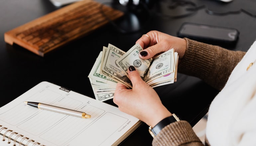
[(256, 41), (212, 101), (206, 136), (211, 146), (256, 146)]

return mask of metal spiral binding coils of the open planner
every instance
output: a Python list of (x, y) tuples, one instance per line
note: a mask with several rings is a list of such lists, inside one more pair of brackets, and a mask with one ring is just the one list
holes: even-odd
[[(19, 134), (18, 132), (14, 132), (13, 130), (10, 130), (10, 129), (6, 130), (4, 133), (1, 133), (1, 131), (2, 131), (3, 129), (8, 129), (8, 128), (3, 127), (2, 125), (0, 125), (0, 135), (3, 136), (2, 141), (5, 141), (5, 140), (6, 140), (5, 138), (8, 138), (8, 142), (7, 142), (8, 144), (10, 144), (11, 141), (13, 141), (13, 146), (18, 146), (17, 144), (19, 144), (19, 146), (28, 146), (30, 143), (33, 143), (32, 146), (39, 146), (39, 145), (40, 145), (39, 142), (35, 142), (35, 140), (33, 140), (33, 139), (30, 139), (30, 140), (29, 140), (28, 137), (24, 137), (24, 135)], [(12, 133), (11, 133), (11, 134), (9, 135), (9, 137), (8, 137), (8, 136), (6, 136), (6, 134), (9, 133), (9, 132), (12, 132)], [(14, 134), (16, 134), (17, 136), (13, 139), (12, 136), (13, 136)], [(17, 139), (18, 139), (19, 137), (23, 137), (23, 138), (22, 138), (20, 141), (17, 141)], [(26, 144), (22, 143), (25, 139), (27, 140), (27, 143), (26, 143)], [(40, 145), (40, 146), (45, 146), (45, 145)]]

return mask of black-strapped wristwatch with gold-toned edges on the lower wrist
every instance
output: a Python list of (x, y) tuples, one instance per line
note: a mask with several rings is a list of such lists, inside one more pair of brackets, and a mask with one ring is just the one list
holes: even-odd
[(178, 116), (176, 116), (175, 114), (173, 114), (170, 117), (167, 117), (165, 119), (163, 119), (162, 121), (160, 121), (159, 123), (157, 123), (156, 126), (154, 126), (152, 128), (152, 126), (149, 127), (149, 133), (151, 134), (151, 136), (153, 138), (156, 137), (156, 135), (163, 129), (165, 128), (167, 125), (173, 123), (173, 122), (177, 122), (180, 121), (180, 118)]

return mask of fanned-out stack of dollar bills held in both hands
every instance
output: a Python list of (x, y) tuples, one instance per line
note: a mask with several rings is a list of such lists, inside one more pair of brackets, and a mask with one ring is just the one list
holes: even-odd
[(143, 49), (135, 44), (127, 52), (108, 44), (103, 46), (88, 75), (95, 98), (105, 101), (114, 97), (117, 83), (132, 89), (128, 67), (133, 65), (141, 78), (152, 88), (172, 84), (177, 79), (178, 53), (170, 49), (150, 59), (141, 59)]

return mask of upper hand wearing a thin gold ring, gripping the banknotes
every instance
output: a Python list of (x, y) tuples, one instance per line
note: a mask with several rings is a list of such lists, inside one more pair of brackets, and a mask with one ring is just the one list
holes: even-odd
[(166, 52), (172, 48), (178, 53), (179, 59), (182, 59), (187, 48), (187, 41), (183, 38), (174, 37), (156, 30), (149, 31), (136, 41), (144, 49), (140, 52), (142, 59), (149, 59), (155, 55)]

